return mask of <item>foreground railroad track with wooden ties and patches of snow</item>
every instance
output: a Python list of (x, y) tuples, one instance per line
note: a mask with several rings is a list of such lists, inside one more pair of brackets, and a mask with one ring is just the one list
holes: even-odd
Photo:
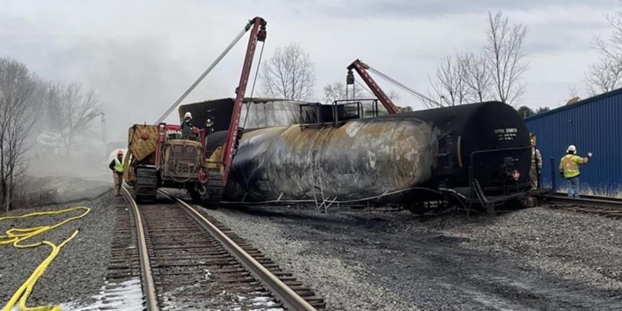
[[(325, 307), (322, 297), (205, 211), (162, 190), (173, 203), (138, 206), (126, 188), (123, 194), (132, 208), (118, 213), (106, 279), (139, 279), (146, 310)], [(119, 295), (103, 304), (121, 304)]]

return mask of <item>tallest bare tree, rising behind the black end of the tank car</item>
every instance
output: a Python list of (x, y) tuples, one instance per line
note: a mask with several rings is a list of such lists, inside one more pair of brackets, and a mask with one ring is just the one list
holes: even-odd
[(513, 104), (524, 93), (525, 85), (519, 83), (529, 64), (523, 61), (523, 41), (527, 27), (510, 25), (501, 12), (488, 12), (486, 59), (494, 85), (494, 96), (503, 103)]

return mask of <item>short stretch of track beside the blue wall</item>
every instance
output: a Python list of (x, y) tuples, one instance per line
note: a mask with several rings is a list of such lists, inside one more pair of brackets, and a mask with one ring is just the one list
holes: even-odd
[(580, 198), (569, 198), (565, 193), (545, 195), (545, 202), (552, 203), (551, 208), (606, 216), (622, 219), (622, 199), (581, 195)]

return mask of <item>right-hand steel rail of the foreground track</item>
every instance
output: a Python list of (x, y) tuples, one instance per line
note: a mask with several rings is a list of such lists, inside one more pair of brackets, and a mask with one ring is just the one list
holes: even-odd
[(244, 265), (244, 267), (246, 267), (246, 269), (251, 271), (251, 273), (253, 273), (253, 275), (262, 282), (262, 284), (266, 285), (267, 289), (270, 290), (272, 294), (276, 295), (276, 298), (279, 299), (288, 310), (317, 311), (312, 305), (309, 304), (309, 302), (302, 299), (302, 297), (296, 294), (294, 290), (290, 289), (289, 286), (285, 285), (281, 280), (279, 280), (278, 277), (274, 276), (272, 272), (266, 269), (266, 267), (262, 266), (258, 261), (246, 253), (244, 249), (239, 247), (238, 244), (226, 236), (223, 231), (216, 228), (215, 225), (195, 210), (195, 208), (188, 205), (188, 203), (183, 202), (180, 198), (174, 197), (165, 190), (160, 189), (159, 191), (171, 200), (177, 201), (190, 216), (195, 218), (195, 220), (197, 220), (198, 223), (208, 230), (214, 238), (218, 239), (218, 241), (220, 241), (220, 243), (223, 244), (223, 246)]

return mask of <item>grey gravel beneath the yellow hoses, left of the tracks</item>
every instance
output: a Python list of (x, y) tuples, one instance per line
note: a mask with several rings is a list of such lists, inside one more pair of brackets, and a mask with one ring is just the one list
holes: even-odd
[[(85, 184), (81, 186), (86, 187)], [(39, 278), (27, 300), (28, 306), (57, 305), (68, 302), (76, 305), (94, 301), (91, 296), (97, 294), (104, 285), (110, 244), (114, 234), (116, 213), (114, 204), (117, 200), (119, 203), (124, 203), (122, 198), (115, 198), (108, 191), (95, 200), (12, 210), (5, 214), (23, 215), (35, 211), (62, 210), (77, 206), (91, 208), (83, 218), (70, 221), (29, 240), (31, 242), (48, 240), (58, 245), (74, 230), (80, 230), (75, 238), (60, 249), (60, 253)], [(0, 232), (4, 234), (13, 225), (16, 227), (53, 225), (70, 216), (80, 215), (80, 213), (83, 211), (0, 221)], [(51, 248), (45, 244), (37, 248), (26, 249), (16, 249), (12, 245), (0, 246), (0, 302), (2, 306), (6, 305), (11, 295), (44, 261), (50, 251)]]

